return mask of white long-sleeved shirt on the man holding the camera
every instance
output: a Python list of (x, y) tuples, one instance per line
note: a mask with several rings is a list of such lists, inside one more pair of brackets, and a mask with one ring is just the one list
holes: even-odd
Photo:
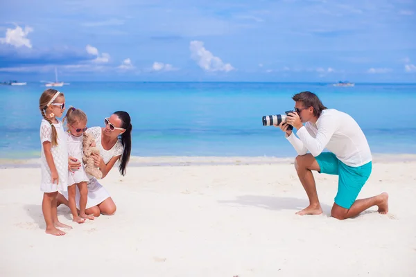
[(297, 154), (304, 155), (309, 150), (317, 157), (324, 148), (336, 155), (347, 166), (363, 166), (372, 161), (370, 146), (358, 123), (343, 111), (324, 109), (316, 125), (307, 122), (296, 134), (287, 136)]

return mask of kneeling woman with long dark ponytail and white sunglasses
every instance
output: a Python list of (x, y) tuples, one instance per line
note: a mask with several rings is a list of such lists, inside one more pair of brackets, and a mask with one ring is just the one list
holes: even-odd
[[(116, 111), (109, 118), (104, 119), (105, 127), (92, 127), (85, 131), (94, 136), (96, 147), (100, 150), (100, 155), (94, 155), (94, 164), (103, 172), (103, 178), (114, 166), (116, 161), (120, 161), (119, 172), (125, 175), (125, 169), (130, 159), (131, 152), (131, 132), (132, 124), (130, 115), (125, 111)], [(74, 161), (69, 157), (69, 167), (76, 169), (80, 166), (79, 161)], [(110, 194), (94, 177), (89, 179), (88, 197), (85, 213), (98, 217), (103, 215), (114, 215), (116, 204), (114, 204)], [(76, 206), (79, 208), (80, 193), (76, 188)], [(64, 204), (69, 206), (68, 193), (60, 192), (58, 195), (58, 206)]]

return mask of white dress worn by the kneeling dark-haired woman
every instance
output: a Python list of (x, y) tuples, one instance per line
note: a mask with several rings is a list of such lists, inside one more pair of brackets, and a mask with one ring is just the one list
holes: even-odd
[[(119, 156), (123, 154), (124, 148), (121, 144), (121, 141), (117, 141), (116, 144), (110, 149), (105, 150), (103, 145), (101, 145), (101, 127), (92, 127), (85, 131), (88, 134), (92, 134), (94, 136), (94, 140), (96, 142), (96, 147), (100, 150), (100, 155), (103, 158), (104, 163), (108, 163), (112, 157)], [(88, 183), (88, 197), (87, 197), (87, 206), (85, 208), (91, 208), (93, 206), (97, 206), (101, 204), (105, 199), (110, 197), (110, 193), (98, 182), (95, 177), (91, 177)], [(68, 199), (68, 192), (62, 191), (62, 195)], [(80, 191), (78, 186), (76, 186), (76, 195), (75, 195), (75, 202), (76, 207), (80, 208)]]

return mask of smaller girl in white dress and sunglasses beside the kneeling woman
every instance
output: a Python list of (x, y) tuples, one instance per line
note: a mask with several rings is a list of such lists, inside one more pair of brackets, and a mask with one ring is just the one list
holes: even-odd
[[(77, 223), (84, 223), (85, 219), (94, 220), (93, 215), (85, 214), (85, 206), (87, 206), (87, 195), (90, 176), (85, 172), (85, 166), (83, 163), (83, 139), (84, 132), (87, 130), (87, 115), (84, 111), (69, 107), (67, 115), (62, 120), (67, 120), (67, 145), (68, 154), (71, 159), (80, 161), (80, 166), (76, 170), (69, 170), (68, 172), (68, 197), (69, 197), (69, 208), (72, 213), (72, 221)], [(76, 185), (76, 186), (75, 186)], [(79, 194), (79, 210), (78, 215), (76, 206), (76, 187), (78, 188)]]

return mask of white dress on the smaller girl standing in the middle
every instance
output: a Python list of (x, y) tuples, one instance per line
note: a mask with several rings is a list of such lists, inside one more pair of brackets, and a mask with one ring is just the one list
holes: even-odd
[(78, 184), (83, 181), (89, 181), (89, 175), (85, 172), (85, 166), (83, 163), (83, 139), (84, 135), (81, 136), (73, 136), (67, 134), (67, 146), (68, 146), (68, 156), (74, 157), (80, 161), (81, 166), (78, 170), (72, 170), (73, 172), (68, 170), (68, 186), (72, 186), (73, 184)]

